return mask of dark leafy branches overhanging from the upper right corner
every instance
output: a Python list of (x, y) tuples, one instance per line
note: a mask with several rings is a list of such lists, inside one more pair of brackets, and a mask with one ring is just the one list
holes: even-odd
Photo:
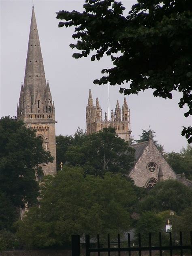
[[(188, 105), (186, 117), (192, 114), (192, 4), (190, 0), (139, 0), (124, 16), (122, 2), (85, 0), (85, 11), (59, 11), (64, 19), (59, 27), (75, 26), (70, 47), (80, 53), (74, 58), (100, 60), (111, 56), (113, 68), (106, 68), (96, 84), (121, 85), (130, 82), (120, 93), (138, 94), (148, 88), (154, 96), (172, 98), (172, 91), (183, 95), (179, 107)], [(118, 54), (117, 54), (118, 53)], [(183, 128), (182, 135), (192, 142), (192, 127)]]

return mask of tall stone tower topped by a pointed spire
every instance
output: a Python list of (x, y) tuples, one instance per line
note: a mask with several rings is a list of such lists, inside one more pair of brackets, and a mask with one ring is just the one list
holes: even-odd
[(45, 150), (51, 152), (53, 163), (42, 164), (45, 175), (56, 173), (55, 149), (55, 107), (52, 102), (49, 81), (45, 80), (45, 71), (41, 46), (38, 37), (34, 6), (32, 9), (28, 52), (24, 83), (21, 83), (17, 118), (27, 127), (36, 129)]

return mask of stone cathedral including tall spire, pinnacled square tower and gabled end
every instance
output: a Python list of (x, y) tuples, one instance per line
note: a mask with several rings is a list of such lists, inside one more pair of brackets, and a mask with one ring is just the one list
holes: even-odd
[[(17, 119), (23, 120), (28, 128), (36, 130), (36, 136), (41, 138), (43, 148), (50, 151), (51, 156), (54, 157), (53, 163), (41, 164), (45, 175), (54, 175), (56, 173), (55, 107), (49, 81), (46, 82), (45, 79), (34, 7), (32, 8), (24, 83), (21, 83), (17, 105)], [(122, 109), (117, 100), (115, 111), (111, 111), (111, 118), (105, 113), (103, 121), (99, 100), (96, 98), (94, 105), (90, 90), (86, 107), (86, 125), (87, 134), (111, 126), (115, 128), (120, 138), (130, 141), (130, 109), (126, 98), (124, 98)], [(157, 182), (166, 179), (179, 179), (187, 186), (192, 186), (191, 181), (180, 177), (181, 175), (173, 171), (152, 140), (130, 145), (130, 147), (135, 149), (135, 163), (129, 177), (133, 179), (136, 186), (152, 188)]]

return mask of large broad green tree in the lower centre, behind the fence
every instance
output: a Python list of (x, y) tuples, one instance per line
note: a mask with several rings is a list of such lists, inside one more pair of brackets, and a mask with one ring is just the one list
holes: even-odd
[(130, 228), (137, 200), (120, 174), (84, 177), (79, 167), (65, 166), (55, 177), (46, 176), (41, 191), (40, 207), (30, 208), (17, 222), (17, 237), (26, 247), (61, 246), (72, 234), (122, 234)]

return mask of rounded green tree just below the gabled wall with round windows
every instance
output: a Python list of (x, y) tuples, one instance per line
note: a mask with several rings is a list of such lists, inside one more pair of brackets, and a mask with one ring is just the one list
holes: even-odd
[(140, 211), (150, 211), (151, 207), (156, 213), (173, 210), (180, 213), (192, 205), (192, 189), (176, 180), (162, 181), (149, 190), (149, 194), (141, 200)]

